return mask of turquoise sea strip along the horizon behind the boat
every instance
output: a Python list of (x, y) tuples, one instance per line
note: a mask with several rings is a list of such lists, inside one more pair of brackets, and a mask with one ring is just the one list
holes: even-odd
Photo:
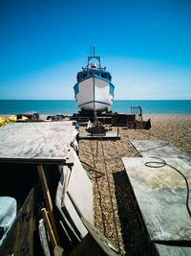
[[(113, 112), (131, 113), (131, 106), (141, 106), (143, 114), (191, 114), (191, 100), (114, 100)], [(35, 111), (39, 114), (78, 112), (74, 100), (0, 100), (0, 114)]]

